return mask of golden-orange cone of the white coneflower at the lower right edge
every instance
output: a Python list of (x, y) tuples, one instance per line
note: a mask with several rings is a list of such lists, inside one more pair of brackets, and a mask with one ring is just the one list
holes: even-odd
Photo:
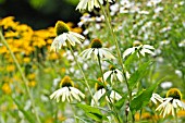
[(171, 88), (169, 89), (169, 91), (166, 93), (166, 97), (172, 97), (173, 99), (182, 99), (182, 94), (177, 88)]

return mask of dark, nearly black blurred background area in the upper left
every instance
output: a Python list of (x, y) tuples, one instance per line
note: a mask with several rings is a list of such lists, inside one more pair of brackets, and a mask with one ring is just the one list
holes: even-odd
[(0, 0), (0, 19), (15, 16), (15, 20), (41, 29), (54, 26), (55, 22), (76, 23), (81, 13), (75, 11), (78, 0)]

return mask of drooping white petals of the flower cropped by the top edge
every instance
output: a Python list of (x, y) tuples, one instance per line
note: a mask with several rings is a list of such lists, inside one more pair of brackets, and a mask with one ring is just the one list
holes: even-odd
[[(114, 0), (108, 0), (108, 2), (113, 2)], [(79, 0), (76, 10), (88, 10), (91, 11), (94, 8), (100, 8), (103, 4), (103, 0)]]

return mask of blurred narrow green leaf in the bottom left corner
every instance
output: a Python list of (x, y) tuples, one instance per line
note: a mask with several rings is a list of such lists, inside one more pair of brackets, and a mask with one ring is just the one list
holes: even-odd
[(24, 114), (26, 120), (29, 121), (29, 123), (35, 123), (35, 119), (33, 118), (33, 114), (30, 114), (28, 111), (25, 111), (22, 104), (20, 104), (21, 102), (18, 102), (18, 100), (13, 99), (13, 101), (17, 106), (18, 110)]

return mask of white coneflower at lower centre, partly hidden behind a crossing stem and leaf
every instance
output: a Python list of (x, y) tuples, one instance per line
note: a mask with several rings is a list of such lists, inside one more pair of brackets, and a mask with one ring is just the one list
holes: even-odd
[[(100, 83), (102, 83), (102, 79), (101, 78), (98, 78), (98, 81)], [(94, 99), (91, 99), (91, 106), (95, 106), (95, 104), (99, 104), (99, 100), (106, 95), (106, 89), (104, 89), (104, 86), (103, 85), (100, 85), (98, 83), (95, 84), (95, 89), (97, 90), (94, 95)], [(114, 90), (111, 90), (109, 97), (106, 96), (106, 99), (108, 102), (114, 102), (114, 101), (118, 101), (122, 98), (122, 96), (120, 94), (118, 94), (116, 91)]]

